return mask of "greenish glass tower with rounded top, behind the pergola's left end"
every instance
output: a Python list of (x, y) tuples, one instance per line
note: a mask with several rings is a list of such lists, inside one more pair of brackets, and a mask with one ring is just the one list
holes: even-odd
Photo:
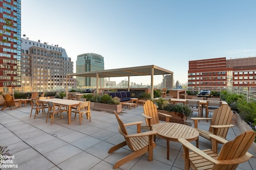
[[(85, 53), (77, 56), (76, 73), (104, 70), (104, 57), (95, 53)], [(96, 77), (76, 77), (80, 88), (96, 87)], [(104, 78), (99, 79), (99, 86), (104, 86)]]

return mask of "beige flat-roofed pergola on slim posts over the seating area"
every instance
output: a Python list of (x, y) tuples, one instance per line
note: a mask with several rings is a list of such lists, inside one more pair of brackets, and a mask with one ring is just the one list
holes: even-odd
[[(81, 77), (96, 77), (96, 93), (99, 92), (99, 78), (105, 77), (128, 77), (128, 91), (130, 91), (130, 76), (142, 76), (151, 75), (151, 98), (153, 99), (154, 93), (154, 75), (173, 75), (172, 71), (163, 69), (156, 65), (145, 65), (138, 67), (127, 67), (120, 69), (108, 69), (108, 70), (97, 70), (97, 71), (86, 71), (83, 73), (70, 73), (66, 75), (66, 82), (70, 76), (81, 76)], [(66, 83), (66, 94), (68, 94), (68, 83)]]

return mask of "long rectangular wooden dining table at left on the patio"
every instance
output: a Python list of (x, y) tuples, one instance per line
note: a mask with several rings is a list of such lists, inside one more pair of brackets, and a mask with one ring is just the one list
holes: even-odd
[(55, 105), (60, 105), (68, 108), (68, 124), (71, 123), (71, 107), (78, 106), (81, 101), (76, 101), (76, 100), (67, 100), (67, 99), (38, 99), (37, 101), (42, 102), (42, 103), (48, 103), (53, 102)]

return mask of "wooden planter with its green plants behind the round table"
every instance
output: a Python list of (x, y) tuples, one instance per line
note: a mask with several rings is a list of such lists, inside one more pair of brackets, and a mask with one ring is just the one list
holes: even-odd
[[(186, 122), (186, 118), (191, 116), (193, 113), (193, 110), (190, 106), (187, 106), (183, 103), (171, 104), (162, 98), (159, 98), (156, 101), (156, 105), (158, 106), (159, 113), (172, 115), (169, 122), (184, 124)], [(161, 115), (159, 115), (159, 120), (165, 121), (165, 117), (161, 117)]]

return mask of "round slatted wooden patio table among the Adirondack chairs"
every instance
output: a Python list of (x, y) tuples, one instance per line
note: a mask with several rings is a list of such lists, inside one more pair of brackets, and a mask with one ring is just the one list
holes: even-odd
[(160, 138), (166, 139), (168, 160), (170, 141), (178, 142), (179, 138), (194, 141), (199, 136), (199, 132), (195, 128), (180, 123), (158, 123), (152, 126), (152, 130), (156, 130), (156, 135)]

